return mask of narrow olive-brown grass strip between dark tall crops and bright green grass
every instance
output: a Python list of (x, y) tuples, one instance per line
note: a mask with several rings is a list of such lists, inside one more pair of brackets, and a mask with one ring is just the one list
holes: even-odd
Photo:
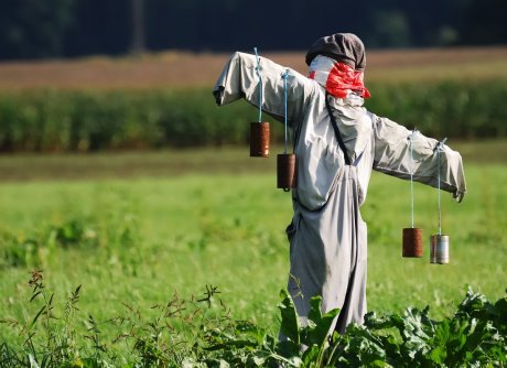
[[(466, 163), (507, 163), (505, 140), (451, 140), (447, 144), (460, 151)], [(2, 154), (0, 181), (174, 177), (196, 173), (207, 175), (231, 172), (244, 175), (272, 173), (276, 170), (278, 153), (283, 153), (283, 147), (272, 147), (270, 158), (259, 160), (249, 158), (248, 148), (245, 147), (93, 154)]]

